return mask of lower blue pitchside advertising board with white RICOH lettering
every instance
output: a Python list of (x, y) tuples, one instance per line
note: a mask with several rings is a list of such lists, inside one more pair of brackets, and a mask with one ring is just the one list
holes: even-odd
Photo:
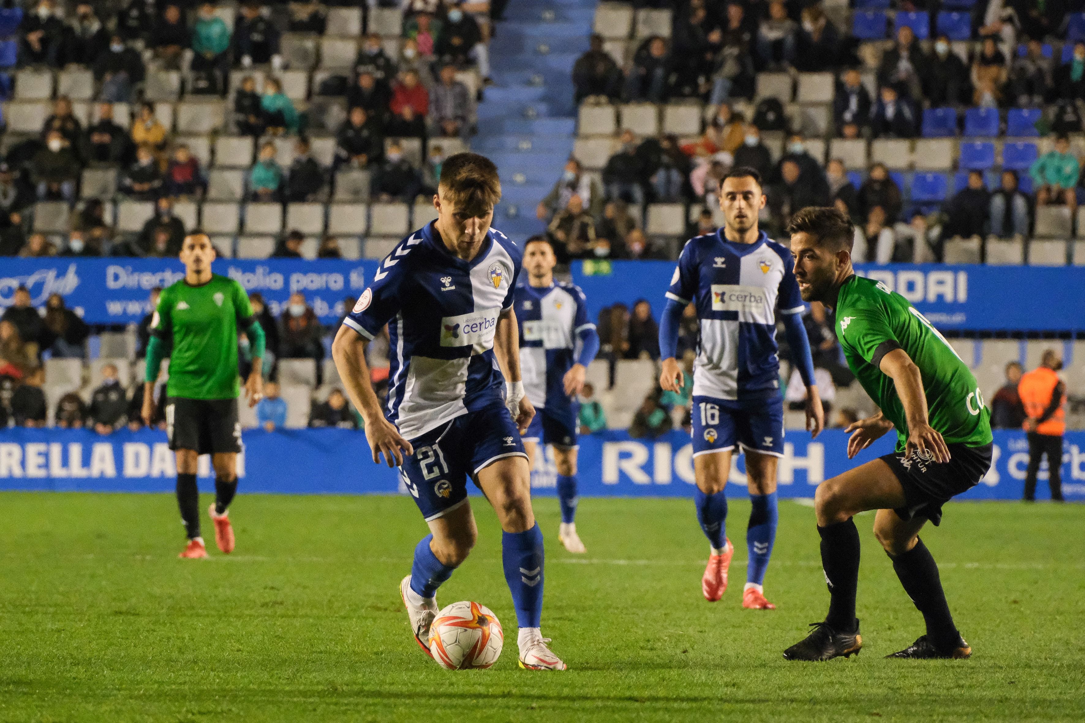
[[(855, 460), (845, 452), (847, 435), (828, 429), (816, 440), (788, 432), (779, 465), (779, 494), (812, 498), (817, 485), (892, 451), (886, 435)], [(282, 494), (407, 494), (397, 470), (373, 464), (362, 432), (295, 429), (244, 434), (239, 474), (244, 492)], [(963, 500), (1020, 500), (1029, 446), (1020, 431), (995, 432), (994, 465)], [(731, 469), (728, 493), (746, 494), (742, 457)], [(169, 492), (174, 454), (161, 431), (122, 430), (102, 437), (87, 430), (4, 429), (0, 431), (0, 490), (82, 490)], [(1063, 444), (1063, 493), (1085, 501), (1085, 432), (1070, 432)], [(1046, 496), (1048, 470), (1041, 468)], [(580, 438), (579, 492), (583, 496), (691, 496), (693, 452), (688, 435), (673, 431), (655, 440), (631, 439), (624, 431)], [(200, 459), (200, 485), (214, 491), (209, 459)], [(534, 493), (554, 493), (552, 461), (539, 455)], [(477, 490), (469, 486), (473, 493)]]

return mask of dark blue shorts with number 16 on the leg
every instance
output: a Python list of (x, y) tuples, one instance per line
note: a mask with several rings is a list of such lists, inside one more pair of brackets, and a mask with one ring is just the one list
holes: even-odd
[(693, 456), (738, 444), (749, 452), (783, 456), (783, 397), (693, 397)]

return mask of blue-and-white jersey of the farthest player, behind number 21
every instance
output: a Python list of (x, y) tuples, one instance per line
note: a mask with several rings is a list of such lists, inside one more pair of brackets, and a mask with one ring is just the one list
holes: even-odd
[(580, 332), (596, 327), (584, 292), (573, 284), (532, 286), (521, 280), (513, 293), (524, 392), (535, 409), (571, 406), (565, 372), (576, 363)]

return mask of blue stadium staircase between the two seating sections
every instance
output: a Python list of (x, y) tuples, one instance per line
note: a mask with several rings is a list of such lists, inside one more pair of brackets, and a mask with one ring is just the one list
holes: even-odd
[(544, 230), (535, 207), (573, 153), (573, 64), (588, 50), (595, 13), (595, 0), (518, 0), (490, 41), (494, 85), (471, 145), (497, 164), (494, 227), (516, 241)]

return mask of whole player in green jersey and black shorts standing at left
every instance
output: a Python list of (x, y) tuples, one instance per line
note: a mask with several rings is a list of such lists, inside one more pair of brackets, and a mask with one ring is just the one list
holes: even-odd
[[(166, 435), (177, 455), (177, 505), (189, 543), (180, 557), (207, 556), (200, 535), (200, 490), (196, 461), (212, 455), (215, 467), (215, 503), (207, 511), (215, 522), (215, 542), (224, 553), (233, 550), (233, 528), (227, 508), (238, 491), (238, 330), (252, 344), (253, 371), (245, 382), (248, 405), (263, 393), (260, 361), (264, 330), (253, 317), (241, 284), (210, 272), (215, 247), (205, 234), (184, 238), (181, 261), (184, 279), (164, 289), (151, 319), (143, 388), (143, 419), (150, 424), (154, 382), (162, 360), (169, 358), (166, 383)], [(173, 348), (165, 352), (167, 343)]]

